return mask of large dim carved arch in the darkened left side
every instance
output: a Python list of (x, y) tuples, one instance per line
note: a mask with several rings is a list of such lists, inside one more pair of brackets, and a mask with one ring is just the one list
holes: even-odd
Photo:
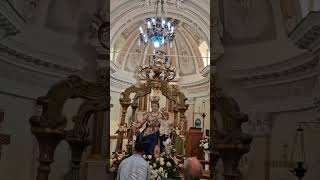
[[(63, 117), (62, 109), (65, 102), (73, 98), (81, 98), (84, 102), (73, 117), (73, 129), (65, 130), (67, 119)], [(90, 144), (88, 120), (92, 113), (108, 110), (109, 100), (107, 89), (101, 83), (87, 82), (79, 76), (69, 76), (54, 84), (46, 96), (38, 98), (42, 114), (30, 118), (31, 131), (39, 144), (37, 180), (48, 180), (50, 164), (62, 140), (66, 140), (71, 147), (72, 179), (79, 177), (81, 156)]]

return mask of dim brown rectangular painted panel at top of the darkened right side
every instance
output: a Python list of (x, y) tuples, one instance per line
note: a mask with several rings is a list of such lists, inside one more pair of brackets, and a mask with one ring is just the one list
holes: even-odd
[(226, 46), (270, 41), (276, 26), (270, 0), (221, 1)]

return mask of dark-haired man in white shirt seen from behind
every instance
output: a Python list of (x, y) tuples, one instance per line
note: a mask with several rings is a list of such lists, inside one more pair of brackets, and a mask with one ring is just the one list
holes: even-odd
[(117, 180), (149, 180), (149, 163), (143, 159), (144, 147), (142, 143), (136, 142), (134, 153), (124, 159), (118, 168)]

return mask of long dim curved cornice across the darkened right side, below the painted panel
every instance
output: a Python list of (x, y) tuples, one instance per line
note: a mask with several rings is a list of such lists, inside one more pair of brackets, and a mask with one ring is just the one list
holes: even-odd
[(319, 57), (307, 52), (280, 63), (235, 70), (231, 78), (234, 82), (248, 88), (305, 79), (316, 76), (318, 69)]

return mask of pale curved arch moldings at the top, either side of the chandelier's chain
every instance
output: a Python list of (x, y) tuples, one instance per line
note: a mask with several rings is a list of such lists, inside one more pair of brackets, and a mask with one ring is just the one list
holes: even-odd
[[(167, 16), (179, 19), (196, 28), (201, 32), (200, 34), (204, 35), (207, 42), (209, 42), (209, 8), (207, 6), (199, 7), (197, 5), (199, 3), (199, 1), (186, 1), (185, 5), (188, 8), (184, 8), (183, 10), (177, 10), (175, 7), (168, 7)], [(139, 2), (127, 1), (122, 4), (119, 3), (111, 6), (111, 44), (115, 42), (115, 39), (117, 39), (117, 36), (122, 32), (122, 29), (127, 29), (127, 27), (139, 22), (141, 19), (145, 19), (145, 17), (150, 16), (153, 13), (152, 8), (141, 7)]]

